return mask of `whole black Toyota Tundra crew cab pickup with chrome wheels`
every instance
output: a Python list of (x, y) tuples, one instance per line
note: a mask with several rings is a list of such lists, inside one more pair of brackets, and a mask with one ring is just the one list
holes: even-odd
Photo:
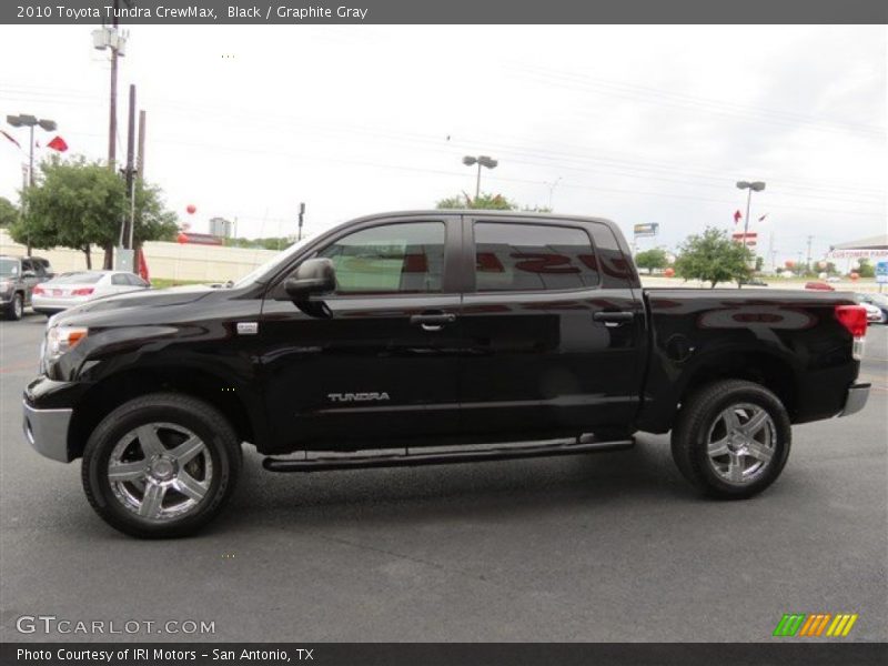
[(610, 451), (672, 431), (704, 493), (749, 497), (790, 425), (865, 405), (852, 294), (643, 290), (593, 218), (421, 211), (354, 220), (236, 283), (53, 316), (24, 433), (82, 457), (112, 526), (214, 516), (241, 443), (273, 472)]

